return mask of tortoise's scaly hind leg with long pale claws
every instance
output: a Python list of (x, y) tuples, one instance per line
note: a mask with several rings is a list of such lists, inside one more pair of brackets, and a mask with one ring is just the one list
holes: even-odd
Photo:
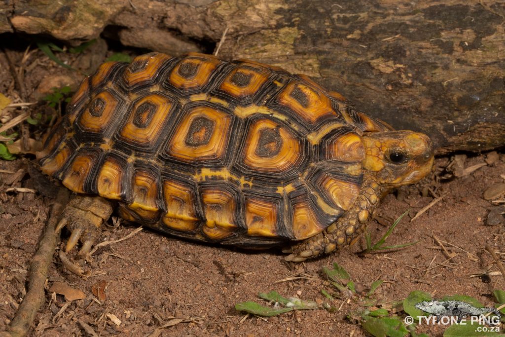
[(82, 243), (79, 254), (86, 255), (100, 235), (100, 226), (112, 214), (111, 202), (102, 197), (73, 196), (62, 213), (56, 231), (64, 226), (71, 231), (66, 251)]

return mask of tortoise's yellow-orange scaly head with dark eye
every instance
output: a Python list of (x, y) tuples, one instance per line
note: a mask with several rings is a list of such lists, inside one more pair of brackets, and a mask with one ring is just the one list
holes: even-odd
[(430, 138), (414, 131), (367, 132), (363, 135), (363, 168), (386, 188), (413, 184), (433, 165)]

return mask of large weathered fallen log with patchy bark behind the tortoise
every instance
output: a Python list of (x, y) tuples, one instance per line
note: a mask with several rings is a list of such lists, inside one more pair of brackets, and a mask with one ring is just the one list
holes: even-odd
[(75, 43), (114, 25), (123, 43), (178, 55), (212, 52), (226, 30), (220, 57), (307, 74), (397, 129), (427, 133), (439, 153), (505, 144), (502, 2), (80, 0), (47, 14), (41, 2), (14, 1), (15, 31)]

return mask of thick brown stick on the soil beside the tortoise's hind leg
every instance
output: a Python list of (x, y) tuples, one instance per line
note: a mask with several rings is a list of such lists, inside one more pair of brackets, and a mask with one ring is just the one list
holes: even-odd
[(28, 291), (19, 305), (19, 310), (14, 316), (7, 331), (0, 332), (0, 337), (25, 336), (30, 328), (35, 314), (45, 301), (44, 283), (47, 278), (49, 265), (53, 261), (53, 254), (60, 239), (60, 234), (55, 232), (56, 224), (60, 219), (61, 212), (69, 199), (66, 188), (60, 188), (58, 197), (51, 210), (38, 249), (30, 263)]

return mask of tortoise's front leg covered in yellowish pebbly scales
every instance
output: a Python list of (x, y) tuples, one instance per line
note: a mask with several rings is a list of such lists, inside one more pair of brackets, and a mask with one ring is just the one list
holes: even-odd
[(323, 232), (293, 246), (292, 254), (286, 256), (286, 261), (305, 261), (308, 258), (329, 254), (342, 248), (344, 244), (353, 244), (365, 230), (372, 212), (379, 204), (381, 194), (379, 183), (372, 176), (365, 175), (354, 204)]

